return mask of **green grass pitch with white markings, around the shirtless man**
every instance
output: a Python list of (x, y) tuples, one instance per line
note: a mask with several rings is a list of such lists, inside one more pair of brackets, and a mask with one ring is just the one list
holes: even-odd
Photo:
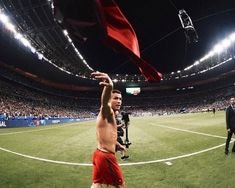
[[(116, 155), (126, 187), (234, 187), (235, 154), (225, 157), (222, 145), (225, 112), (130, 120), (130, 159)], [(95, 148), (95, 121), (0, 129), (0, 187), (89, 188)]]

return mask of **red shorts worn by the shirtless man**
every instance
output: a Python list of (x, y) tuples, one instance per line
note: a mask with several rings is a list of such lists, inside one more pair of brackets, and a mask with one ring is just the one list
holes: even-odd
[(123, 185), (124, 178), (114, 153), (96, 150), (93, 154), (93, 183)]

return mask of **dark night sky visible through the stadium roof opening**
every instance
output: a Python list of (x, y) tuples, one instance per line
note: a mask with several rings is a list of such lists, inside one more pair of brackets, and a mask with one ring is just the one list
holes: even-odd
[[(235, 32), (234, 0), (116, 0), (133, 26), (141, 56), (162, 73), (185, 68), (200, 59), (221, 39)], [(186, 10), (198, 33), (197, 43), (186, 42), (178, 11)], [(127, 56), (99, 41), (79, 47), (94, 69), (108, 73), (139, 73)]]

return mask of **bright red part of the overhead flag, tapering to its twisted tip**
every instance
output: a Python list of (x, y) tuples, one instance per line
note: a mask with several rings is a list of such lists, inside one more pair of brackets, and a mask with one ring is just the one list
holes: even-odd
[(113, 48), (124, 51), (136, 63), (148, 81), (159, 81), (162, 74), (140, 58), (139, 44), (135, 31), (113, 0), (96, 0), (99, 20), (106, 31), (104, 38)]

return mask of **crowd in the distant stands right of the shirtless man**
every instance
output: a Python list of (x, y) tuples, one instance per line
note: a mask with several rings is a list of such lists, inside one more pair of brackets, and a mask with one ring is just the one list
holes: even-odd
[(233, 93), (235, 93), (234, 86), (226, 88), (226, 91), (221, 88), (159, 97), (130, 96), (126, 98), (129, 104), (126, 109), (134, 116), (209, 112), (213, 108), (218, 111), (228, 106), (228, 96), (232, 96)]

